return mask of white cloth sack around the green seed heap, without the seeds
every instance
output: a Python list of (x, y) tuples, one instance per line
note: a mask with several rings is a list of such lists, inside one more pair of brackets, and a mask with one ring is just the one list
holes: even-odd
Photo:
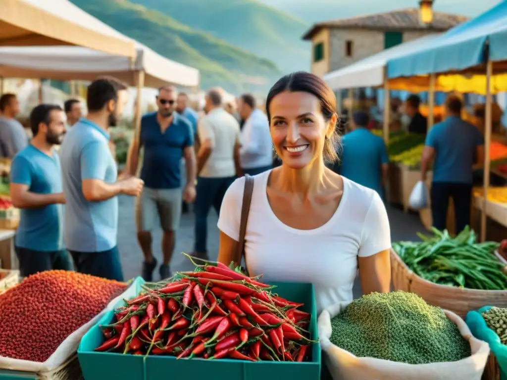
[(331, 318), (340, 314), (348, 304), (349, 302), (340, 302), (324, 309), (318, 319), (323, 360), (334, 380), (481, 380), (488, 360), (489, 346), (476, 339), (466, 323), (456, 314), (444, 310), (447, 317), (456, 323), (461, 335), (470, 343), (472, 356), (456, 362), (407, 364), (358, 358), (331, 343)]

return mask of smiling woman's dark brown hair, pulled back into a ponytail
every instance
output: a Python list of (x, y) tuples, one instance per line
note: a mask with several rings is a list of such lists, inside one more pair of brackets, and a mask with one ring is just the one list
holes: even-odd
[[(276, 82), (271, 90), (269, 90), (266, 98), (266, 114), (271, 122), (269, 105), (273, 98), (282, 92), (307, 92), (314, 95), (320, 102), (320, 111), (324, 120), (329, 122), (336, 113), (336, 97), (331, 88), (317, 75), (306, 71), (297, 71), (292, 74), (285, 75)], [(332, 163), (338, 160), (338, 146), (340, 144), (340, 135), (334, 126), (331, 137), (325, 137), (323, 156), (324, 162)]]

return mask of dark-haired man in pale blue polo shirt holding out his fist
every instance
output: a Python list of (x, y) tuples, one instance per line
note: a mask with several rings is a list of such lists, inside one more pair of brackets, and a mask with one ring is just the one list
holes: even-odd
[(88, 115), (63, 141), (65, 244), (78, 272), (123, 281), (117, 247), (118, 195), (137, 196), (143, 182), (117, 181), (118, 168), (108, 145), (109, 127), (118, 125), (127, 87), (114, 79), (88, 86)]

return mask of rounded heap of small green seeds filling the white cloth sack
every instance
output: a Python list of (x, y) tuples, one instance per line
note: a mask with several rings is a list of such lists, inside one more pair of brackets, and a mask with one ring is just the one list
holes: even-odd
[(358, 357), (426, 364), (470, 356), (470, 345), (442, 309), (413, 293), (364, 295), (331, 325), (331, 342)]

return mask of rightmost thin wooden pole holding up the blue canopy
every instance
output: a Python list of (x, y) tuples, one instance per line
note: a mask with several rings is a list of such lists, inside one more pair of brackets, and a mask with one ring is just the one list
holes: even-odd
[(491, 120), (491, 75), (493, 74), (493, 62), (488, 59), (488, 63), (486, 64), (486, 110), (485, 110), (485, 118), (486, 118), (486, 126), (484, 131), (484, 201), (482, 206), (482, 214), (481, 214), (481, 241), (486, 241), (486, 221), (487, 221), (487, 212), (486, 205), (488, 203), (488, 187), (489, 187), (489, 176), (490, 176), (490, 168), (491, 168), (491, 160), (489, 157), (489, 149), (491, 145), (491, 128), (492, 128), (492, 120)]

